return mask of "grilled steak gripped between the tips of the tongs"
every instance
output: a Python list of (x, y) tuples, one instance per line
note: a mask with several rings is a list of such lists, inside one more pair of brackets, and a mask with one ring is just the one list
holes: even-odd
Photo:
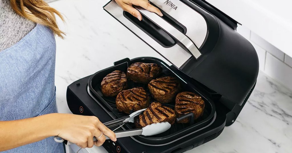
[(175, 112), (173, 109), (163, 106), (161, 103), (153, 102), (139, 116), (135, 117), (136, 128), (142, 128), (153, 123), (175, 122)]

